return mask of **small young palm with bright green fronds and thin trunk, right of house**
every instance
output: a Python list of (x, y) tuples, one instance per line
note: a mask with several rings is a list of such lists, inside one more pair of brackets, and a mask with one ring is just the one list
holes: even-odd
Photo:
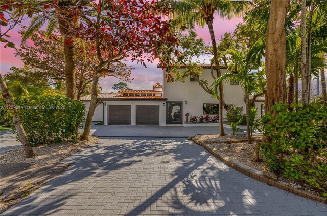
[(244, 89), (244, 100), (246, 107), (246, 127), (248, 143), (251, 144), (251, 130), (249, 121), (249, 104), (250, 94), (255, 93), (259, 87), (258, 73), (250, 73), (251, 67), (259, 68), (261, 64), (262, 52), (259, 49), (262, 47), (262, 41), (258, 41), (248, 51), (237, 51), (234, 49), (227, 49), (222, 52), (222, 55), (230, 55), (232, 58), (228, 70), (230, 73), (223, 74), (220, 78), (216, 79), (212, 85), (213, 91), (217, 92), (219, 84), (225, 81), (235, 80), (240, 82), (241, 87)]

